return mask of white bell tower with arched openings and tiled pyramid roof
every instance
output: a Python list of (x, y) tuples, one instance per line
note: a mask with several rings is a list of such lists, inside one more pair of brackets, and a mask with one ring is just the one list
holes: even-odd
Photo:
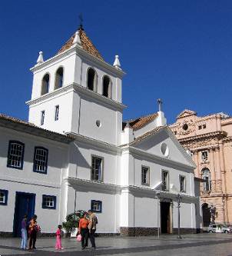
[(121, 70), (104, 62), (82, 25), (52, 57), (39, 52), (31, 68), (33, 85), (28, 121), (61, 134), (121, 143)]

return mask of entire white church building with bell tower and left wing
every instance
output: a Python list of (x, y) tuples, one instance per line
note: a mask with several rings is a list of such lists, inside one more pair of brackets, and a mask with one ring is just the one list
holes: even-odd
[(18, 236), (24, 214), (54, 233), (90, 208), (99, 234), (172, 234), (178, 194), (181, 232), (200, 230), (194, 161), (161, 108), (123, 121), (118, 55), (104, 62), (79, 28), (31, 71), (28, 122), (0, 115), (0, 235)]

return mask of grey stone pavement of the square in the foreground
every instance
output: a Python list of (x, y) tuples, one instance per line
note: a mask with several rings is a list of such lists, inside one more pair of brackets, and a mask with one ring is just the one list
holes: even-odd
[(55, 250), (55, 238), (38, 238), (37, 249), (23, 251), (19, 249), (19, 238), (0, 238), (0, 255), (113, 255), (113, 256), (232, 256), (232, 234), (184, 234), (183, 239), (176, 235), (157, 237), (130, 237), (130, 238), (96, 238), (96, 250), (81, 251), (81, 243), (75, 238), (62, 239), (64, 247), (61, 251)]

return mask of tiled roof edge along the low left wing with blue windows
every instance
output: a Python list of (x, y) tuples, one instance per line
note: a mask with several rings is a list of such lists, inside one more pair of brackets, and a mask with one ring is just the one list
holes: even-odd
[[(18, 125), (18, 126), (17, 126)], [(49, 131), (43, 128), (38, 127), (28, 121), (23, 121), (18, 118), (12, 118), (11, 116), (4, 115), (0, 113), (0, 126), (6, 128), (12, 128), (14, 130), (19, 130), (22, 132), (26, 132), (28, 134), (41, 136), (43, 138), (48, 138), (55, 141), (69, 143), (74, 141), (75, 138), (70, 135), (61, 135), (55, 131)]]

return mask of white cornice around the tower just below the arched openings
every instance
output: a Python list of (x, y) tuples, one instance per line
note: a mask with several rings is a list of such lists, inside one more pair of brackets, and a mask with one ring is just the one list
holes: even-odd
[(104, 102), (104, 104), (109, 105), (113, 108), (119, 109), (122, 111), (124, 108), (127, 108), (126, 105), (119, 103), (118, 101), (114, 101), (111, 98), (104, 97), (103, 95), (98, 94), (97, 92), (91, 91), (88, 88), (85, 88), (81, 85), (78, 85), (77, 83), (71, 83), (70, 85), (66, 85), (62, 88), (58, 88), (55, 91), (51, 91), (45, 95), (42, 95), (38, 98), (34, 98), (30, 101), (26, 101), (25, 103), (28, 106), (38, 104), (41, 101), (45, 101), (49, 98), (55, 97), (57, 95), (61, 95), (62, 93), (65, 93), (67, 91), (76, 91), (79, 92), (82, 95), (85, 95), (87, 97), (94, 98), (97, 101)]

